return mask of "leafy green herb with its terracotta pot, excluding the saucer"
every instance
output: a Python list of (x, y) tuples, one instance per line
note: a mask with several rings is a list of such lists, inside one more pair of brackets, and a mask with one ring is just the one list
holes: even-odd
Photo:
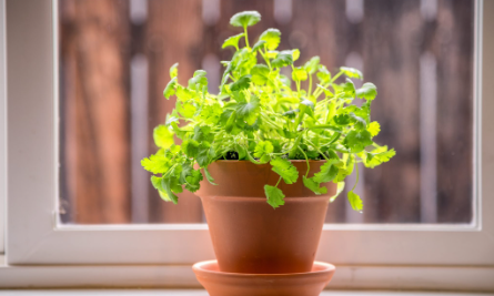
[[(374, 167), (395, 152), (372, 140), (374, 84), (356, 89), (356, 69), (331, 73), (319, 57), (302, 62), (299, 50), (278, 50), (276, 29), (251, 45), (248, 27), (260, 19), (255, 11), (231, 18), (243, 32), (223, 43), (234, 54), (222, 62), (219, 94), (208, 92), (205, 71), (181, 85), (178, 64), (170, 69), (163, 95), (177, 105), (154, 129), (159, 151), (141, 164), (164, 201), (177, 203), (183, 190), (201, 197), (222, 272), (304, 273), (345, 177), (355, 170), (359, 180), (356, 163)], [(347, 200), (361, 212), (354, 188)]]

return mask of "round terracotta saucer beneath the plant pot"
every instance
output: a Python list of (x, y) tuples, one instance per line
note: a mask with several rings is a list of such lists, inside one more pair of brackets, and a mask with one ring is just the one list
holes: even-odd
[(216, 261), (205, 261), (192, 269), (210, 296), (319, 296), (335, 267), (314, 262), (309, 273), (234, 274), (220, 272)]

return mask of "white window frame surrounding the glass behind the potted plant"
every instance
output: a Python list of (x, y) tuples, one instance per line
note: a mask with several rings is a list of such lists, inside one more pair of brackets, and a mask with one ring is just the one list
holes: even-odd
[[(47, 280), (44, 269), (33, 265), (50, 265), (50, 271), (71, 266), (70, 271), (77, 274), (83, 273), (83, 268), (77, 266), (85, 266), (85, 282), (67, 278), (70, 273), (61, 272), (57, 279), (50, 279), (54, 282), (49, 282), (61, 286), (88, 283), (90, 278), (94, 283), (103, 280), (121, 286), (129, 284), (127, 278), (132, 278), (139, 286), (150, 283), (144, 275), (155, 277), (157, 274), (167, 277), (160, 278), (164, 285), (177, 286), (177, 280), (194, 285), (189, 265), (214, 257), (206, 225), (59, 224), (54, 3), (54, 0), (7, 0), (6, 6), (7, 264), (14, 266), (12, 271), (29, 271), (31, 280), (37, 278), (36, 273)], [(494, 83), (488, 80), (494, 76), (494, 20), (483, 18), (488, 12), (494, 14), (494, 1), (477, 0), (473, 205), (481, 211), (474, 211), (471, 225), (325, 225), (317, 259), (339, 267), (336, 286), (494, 289), (494, 283), (486, 280), (494, 278), (494, 215), (488, 212), (494, 210), (494, 195), (488, 194), (494, 192), (494, 118), (491, 115)], [(61, 269), (53, 269), (58, 265)], [(95, 272), (101, 268), (108, 272), (103, 276)], [(3, 279), (0, 276), (0, 287), (8, 280), (27, 283), (7, 269), (3, 269)], [(128, 277), (115, 278), (110, 271)], [(42, 279), (34, 280), (39, 286), (47, 285)]]

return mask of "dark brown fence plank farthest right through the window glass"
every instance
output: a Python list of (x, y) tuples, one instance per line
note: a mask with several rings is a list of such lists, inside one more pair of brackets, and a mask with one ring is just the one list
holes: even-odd
[(474, 1), (438, 1), (431, 50), (437, 58), (437, 218), (472, 221)]

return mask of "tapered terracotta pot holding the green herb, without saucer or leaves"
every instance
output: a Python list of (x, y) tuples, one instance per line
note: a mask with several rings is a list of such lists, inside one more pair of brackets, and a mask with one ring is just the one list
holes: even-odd
[[(323, 161), (310, 162), (310, 176)], [(208, 169), (218, 185), (201, 183), (202, 200), (220, 269), (226, 273), (306, 273), (312, 268), (324, 224), (329, 198), (336, 185), (326, 183), (327, 194), (315, 195), (302, 182), (305, 161), (293, 161), (299, 181), (279, 187), (285, 204), (272, 208), (264, 184), (275, 185), (279, 175), (270, 164), (218, 161)]]

